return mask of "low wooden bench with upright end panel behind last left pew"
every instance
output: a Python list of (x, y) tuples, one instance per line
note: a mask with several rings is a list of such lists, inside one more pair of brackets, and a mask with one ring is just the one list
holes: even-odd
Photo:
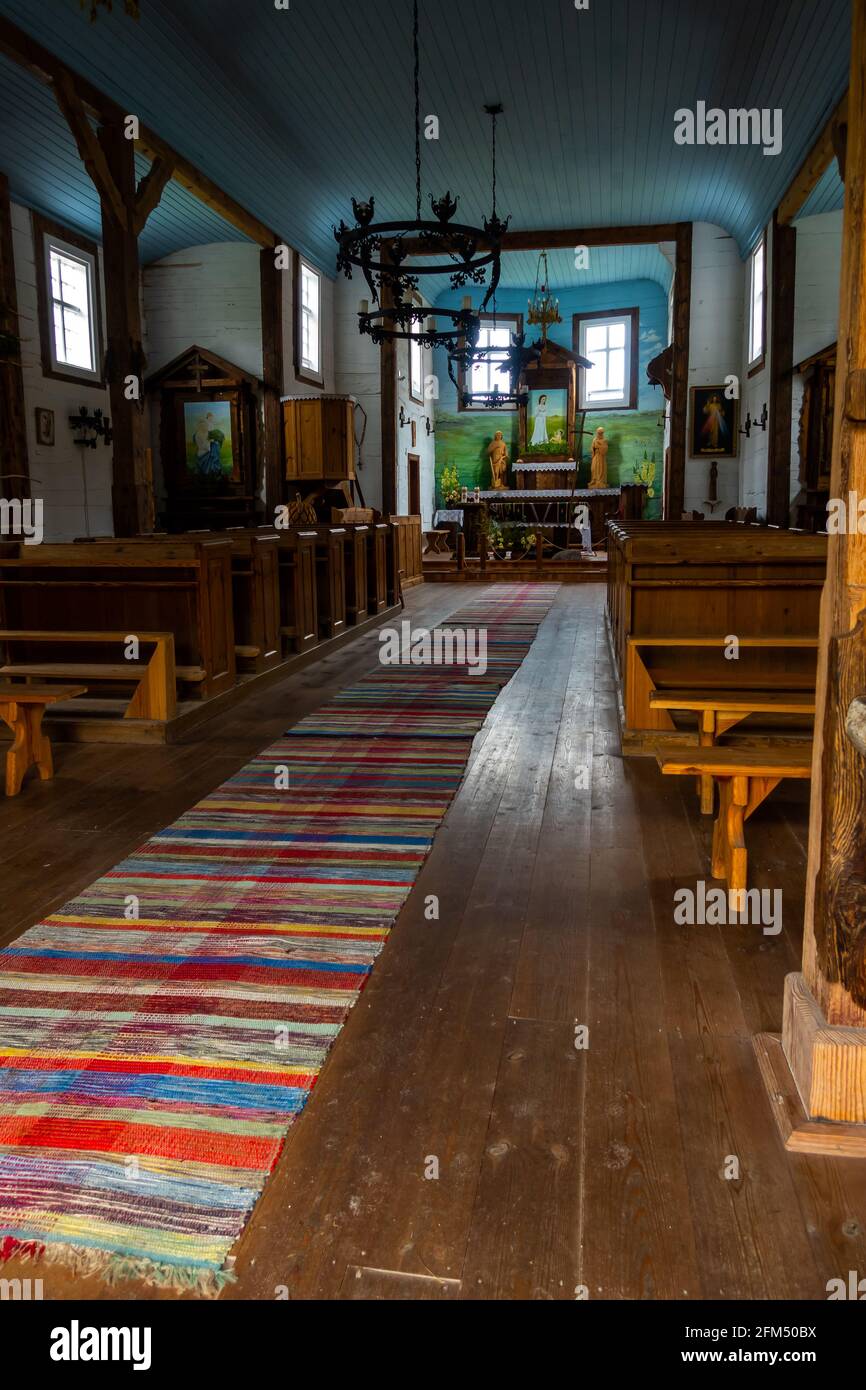
[[(29, 656), (24, 659), (13, 655), (14, 648), (75, 648), (117, 646), (118, 655), (126, 651), (129, 638), (135, 637), (139, 646), (152, 646), (153, 652), (147, 660), (38, 660)], [(51, 681), (51, 680), (85, 680), (107, 681), (115, 685), (135, 684), (135, 691), (124, 719), (157, 719), (170, 720), (177, 713), (177, 669), (174, 660), (172, 632), (44, 632), (44, 631), (13, 631), (0, 628), (0, 646), (4, 648), (6, 659), (0, 666), (0, 676), (7, 681)], [(111, 653), (108, 653), (110, 656)], [(185, 678), (195, 681), (199, 673), (185, 670)], [(203, 673), (200, 673), (203, 676)], [(26, 685), (14, 685), (17, 691), (26, 689)]]

